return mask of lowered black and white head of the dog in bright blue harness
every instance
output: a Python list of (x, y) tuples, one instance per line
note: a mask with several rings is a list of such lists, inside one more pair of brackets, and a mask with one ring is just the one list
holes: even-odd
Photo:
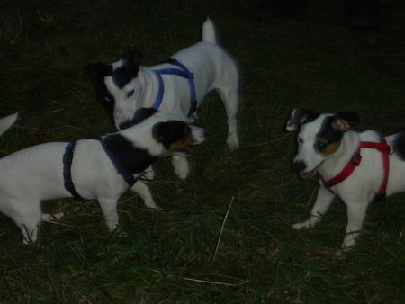
[(99, 62), (86, 67), (95, 94), (108, 114), (112, 115), (117, 130), (128, 128), (134, 113), (142, 106), (137, 103), (141, 94), (138, 81), (141, 58), (139, 50), (132, 50), (111, 64)]

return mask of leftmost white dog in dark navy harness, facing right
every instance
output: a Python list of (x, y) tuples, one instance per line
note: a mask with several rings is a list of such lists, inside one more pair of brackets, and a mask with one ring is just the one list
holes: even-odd
[[(40, 144), (0, 159), (0, 211), (22, 229), (24, 243), (37, 239), (42, 219), (63, 216), (42, 214), (40, 201), (95, 199), (110, 231), (118, 224), (117, 202), (127, 190), (157, 208), (139, 175), (160, 156), (190, 154), (190, 145), (204, 141), (204, 130), (154, 109), (139, 109), (136, 117), (136, 125), (98, 139)], [(0, 130), (15, 119), (4, 118)]]

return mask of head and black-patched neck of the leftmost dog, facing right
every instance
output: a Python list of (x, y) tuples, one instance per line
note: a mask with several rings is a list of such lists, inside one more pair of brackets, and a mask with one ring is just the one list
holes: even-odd
[(190, 156), (192, 146), (205, 140), (205, 130), (188, 124), (175, 114), (140, 108), (130, 128), (103, 138), (131, 172), (141, 173), (158, 157), (171, 154)]

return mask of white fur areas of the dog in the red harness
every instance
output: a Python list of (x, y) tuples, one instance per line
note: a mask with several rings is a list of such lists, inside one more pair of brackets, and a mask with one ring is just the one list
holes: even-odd
[[(380, 141), (379, 134), (374, 130), (366, 130), (362, 133), (348, 130), (344, 133), (340, 147), (335, 153), (326, 157), (321, 156), (315, 151), (313, 144), (322, 122), (328, 116), (330, 114), (321, 114), (316, 120), (302, 124), (297, 137), (300, 141), (302, 139), (302, 143), (299, 144), (298, 154), (294, 157), (294, 161), (302, 161), (307, 165), (306, 172), (317, 169), (325, 180), (336, 176), (347, 165), (361, 141)], [(294, 130), (292, 125), (288, 125), (288, 127), (290, 130)], [(392, 145), (395, 136), (394, 134), (385, 138), (388, 145)], [(347, 228), (346, 237), (341, 246), (342, 250), (347, 250), (355, 245), (356, 237), (365, 220), (367, 207), (383, 183), (381, 152), (374, 148), (362, 148), (361, 156), (361, 163), (355, 171), (342, 183), (332, 187), (333, 192), (347, 205)], [(390, 175), (386, 195), (403, 191), (405, 191), (405, 162), (393, 153), (390, 155)], [(313, 228), (327, 212), (334, 197), (335, 195), (320, 182), (320, 189), (310, 218), (294, 224), (293, 228)], [(338, 251), (339, 253), (341, 251)]]

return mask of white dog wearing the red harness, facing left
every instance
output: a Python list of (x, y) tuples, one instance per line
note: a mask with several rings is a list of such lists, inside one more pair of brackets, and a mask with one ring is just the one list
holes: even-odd
[(303, 109), (295, 109), (287, 122), (287, 130), (298, 130), (294, 171), (304, 179), (320, 174), (311, 216), (293, 228), (314, 227), (338, 195), (347, 205), (343, 250), (355, 245), (370, 202), (405, 191), (405, 131), (384, 138), (374, 130), (351, 130), (358, 122), (355, 113)]

